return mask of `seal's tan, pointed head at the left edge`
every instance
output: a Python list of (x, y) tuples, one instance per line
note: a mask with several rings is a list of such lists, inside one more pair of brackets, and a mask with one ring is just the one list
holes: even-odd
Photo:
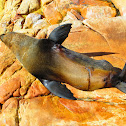
[(33, 43), (38, 42), (38, 39), (16, 32), (2, 34), (0, 39), (16, 56), (23, 55)]

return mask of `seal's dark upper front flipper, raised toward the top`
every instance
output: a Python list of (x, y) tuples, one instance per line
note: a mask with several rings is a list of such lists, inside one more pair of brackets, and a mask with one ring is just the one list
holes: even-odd
[(63, 41), (68, 37), (71, 29), (71, 23), (61, 25), (55, 28), (49, 35), (48, 39), (53, 41), (55, 44), (62, 44)]

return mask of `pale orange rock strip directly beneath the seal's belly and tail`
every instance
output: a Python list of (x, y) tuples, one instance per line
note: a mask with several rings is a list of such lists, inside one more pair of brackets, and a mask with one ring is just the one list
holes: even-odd
[(94, 91), (82, 91), (70, 86), (69, 84), (66, 84), (66, 86), (71, 90), (74, 96), (80, 100), (122, 103), (122, 99), (126, 98), (125, 93), (114, 87), (97, 89)]

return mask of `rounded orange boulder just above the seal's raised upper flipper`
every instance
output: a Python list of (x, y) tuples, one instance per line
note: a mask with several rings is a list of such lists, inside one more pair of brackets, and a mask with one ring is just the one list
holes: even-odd
[(56, 7), (56, 3), (54, 1), (44, 6), (43, 13), (50, 24), (57, 24), (62, 21), (63, 17), (58, 11), (58, 8)]

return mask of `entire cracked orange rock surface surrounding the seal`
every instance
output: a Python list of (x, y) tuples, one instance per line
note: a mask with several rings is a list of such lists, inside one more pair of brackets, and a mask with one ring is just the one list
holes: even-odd
[[(112, 2), (116, 8), (107, 0), (0, 0), (0, 34), (16, 31), (46, 38), (57, 26), (72, 23), (63, 46), (81, 53), (114, 52), (92, 58), (123, 68), (126, 4)], [(121, 16), (115, 17), (116, 9)], [(0, 59), (0, 126), (126, 125), (126, 94), (118, 89), (89, 92), (66, 84), (78, 100), (59, 98), (49, 95), (1, 41)]]

